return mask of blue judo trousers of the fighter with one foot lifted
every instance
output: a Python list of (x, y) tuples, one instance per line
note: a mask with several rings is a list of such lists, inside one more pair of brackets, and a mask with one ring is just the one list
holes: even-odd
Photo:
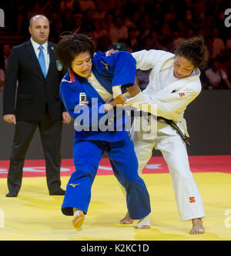
[(79, 140), (74, 143), (76, 171), (66, 187), (62, 213), (73, 215), (73, 207), (87, 214), (91, 188), (104, 150), (109, 152), (112, 170), (126, 189), (126, 203), (130, 217), (139, 220), (150, 213), (149, 193), (138, 175), (138, 161), (129, 134), (124, 140), (106, 142)]

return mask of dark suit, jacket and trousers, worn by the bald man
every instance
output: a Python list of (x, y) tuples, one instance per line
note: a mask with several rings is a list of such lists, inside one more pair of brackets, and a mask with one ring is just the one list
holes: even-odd
[[(41, 139), (45, 151), (49, 192), (52, 193), (60, 186), (62, 112), (66, 110), (59, 97), (59, 84), (66, 70), (62, 69), (62, 66), (62, 70), (58, 70), (60, 66), (56, 65), (54, 43), (48, 42), (48, 51), (50, 62), (46, 78), (42, 74), (31, 40), (12, 47), (8, 59), (5, 73), (3, 115), (15, 114), (17, 122), (8, 171), (8, 188), (15, 194), (18, 193), (22, 184), (23, 157), (25, 158), (30, 143), (28, 142), (26, 147), (22, 146), (25, 143), (24, 140), (28, 140), (28, 138), (22, 137), (22, 130), (25, 134), (23, 136), (31, 133), (28, 123), (38, 125), (39, 122), (43, 122), (42, 127), (45, 127), (47, 133), (45, 134), (43, 131), (46, 138), (41, 136)], [(17, 81), (18, 89), (16, 89)], [(20, 127), (18, 123), (20, 123)], [(54, 123), (58, 123), (58, 125), (54, 126)], [(41, 127), (39, 126), (39, 128)], [(52, 135), (54, 133), (56, 136)], [(51, 136), (47, 136), (47, 134), (51, 134)]]

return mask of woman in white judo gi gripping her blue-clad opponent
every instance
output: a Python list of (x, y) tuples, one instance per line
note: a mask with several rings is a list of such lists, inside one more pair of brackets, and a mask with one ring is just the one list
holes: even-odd
[[(200, 37), (183, 42), (176, 49), (175, 54), (154, 49), (132, 53), (136, 59), (137, 69), (152, 69), (152, 72), (146, 89), (140, 92), (139, 87), (136, 86), (136, 96), (127, 99), (126, 104), (130, 106), (136, 104), (136, 107), (141, 107), (142, 104), (156, 104), (157, 116), (173, 120), (181, 132), (189, 136), (183, 114), (186, 106), (201, 91), (199, 67), (203, 64), (205, 53), (206, 46)], [(128, 89), (134, 94), (132, 90), (134, 87)], [(156, 113), (153, 114), (156, 115)], [(152, 149), (160, 150), (172, 177), (180, 219), (181, 221), (192, 220), (190, 234), (202, 234), (204, 227), (201, 218), (205, 217), (203, 202), (189, 168), (185, 141), (164, 120), (157, 122), (155, 140), (143, 140), (142, 132), (136, 131), (139, 130), (136, 126), (140, 121), (140, 117), (135, 117), (131, 132), (139, 161), (139, 174), (141, 175), (146, 163), (152, 157)], [(121, 223), (132, 223), (129, 214), (122, 219)], [(147, 227), (149, 225), (146, 223)]]

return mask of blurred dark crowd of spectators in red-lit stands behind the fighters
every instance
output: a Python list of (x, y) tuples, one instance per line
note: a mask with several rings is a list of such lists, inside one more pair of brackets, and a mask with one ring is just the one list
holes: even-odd
[[(185, 39), (203, 35), (208, 47), (203, 89), (231, 89), (231, 27), (225, 25), (230, 0), (11, 0), (0, 8), (5, 11), (5, 26), (22, 42), (29, 39), (29, 19), (36, 14), (49, 18), (50, 41), (57, 43), (60, 33), (79, 29), (91, 35), (102, 52), (115, 42), (125, 43), (129, 52), (174, 52)], [(11, 47), (7, 42), (1, 47), (2, 89)], [(138, 71), (138, 76), (144, 89), (149, 71)]]

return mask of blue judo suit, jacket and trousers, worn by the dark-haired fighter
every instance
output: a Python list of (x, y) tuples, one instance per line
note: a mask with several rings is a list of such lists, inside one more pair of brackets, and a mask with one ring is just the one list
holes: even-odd
[[(102, 52), (96, 52), (92, 64), (92, 72), (96, 79), (111, 95), (112, 86), (128, 86), (135, 83), (136, 60), (129, 52), (116, 52), (109, 57)], [(107, 150), (115, 177), (126, 189), (130, 217), (135, 220), (146, 217), (151, 212), (149, 193), (138, 174), (138, 160), (129, 132), (125, 128), (124, 115), (120, 118), (122, 130), (93, 131), (93, 124), (98, 125), (107, 115), (103, 107), (105, 101), (87, 79), (78, 76), (72, 69), (69, 69), (62, 79), (59, 94), (72, 120), (75, 120), (75, 172), (72, 173), (66, 187), (62, 213), (73, 215), (75, 207), (87, 214), (92, 183), (102, 153)], [(115, 116), (118, 117), (119, 113), (115, 113)], [(85, 126), (85, 123), (88, 125)], [(115, 126), (118, 128), (118, 124)], [(91, 129), (79, 130), (79, 127)]]

